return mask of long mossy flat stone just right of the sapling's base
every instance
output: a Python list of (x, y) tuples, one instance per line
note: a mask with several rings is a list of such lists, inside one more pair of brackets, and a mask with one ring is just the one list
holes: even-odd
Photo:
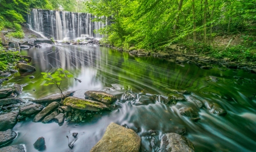
[(94, 102), (93, 100), (76, 98), (69, 96), (64, 100), (64, 105), (68, 105), (75, 109), (87, 110), (87, 111), (100, 111), (100, 109), (110, 109), (109, 105), (100, 102)]

